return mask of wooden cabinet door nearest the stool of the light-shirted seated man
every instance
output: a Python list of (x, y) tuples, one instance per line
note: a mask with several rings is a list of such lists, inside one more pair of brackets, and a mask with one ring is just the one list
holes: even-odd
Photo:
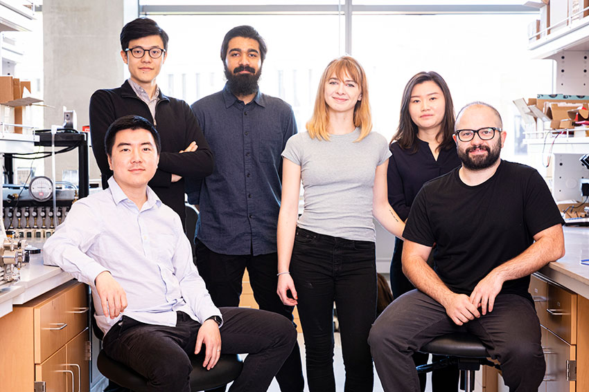
[(69, 385), (67, 392), (90, 390), (89, 337), (89, 331), (86, 329), (71, 339), (66, 346), (66, 368), (73, 371), (74, 384), (73, 391), (71, 391), (71, 385)]

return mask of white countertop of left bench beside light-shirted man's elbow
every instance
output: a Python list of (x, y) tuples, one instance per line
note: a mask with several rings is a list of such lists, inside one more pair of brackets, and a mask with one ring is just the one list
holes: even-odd
[(24, 304), (73, 279), (59, 267), (43, 265), (42, 254), (31, 254), (30, 262), (20, 270), (20, 281), (0, 290), (0, 317), (12, 312), (12, 305)]

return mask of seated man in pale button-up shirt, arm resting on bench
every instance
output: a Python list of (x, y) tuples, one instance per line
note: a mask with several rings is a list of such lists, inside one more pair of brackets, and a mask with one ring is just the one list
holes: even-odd
[(109, 127), (109, 188), (73, 205), (45, 243), (46, 263), (91, 286), (105, 353), (147, 377), (153, 391), (190, 391), (186, 354), (200, 351), (207, 369), (220, 353), (249, 353), (230, 391), (266, 391), (296, 331), (274, 313), (213, 304), (179, 216), (147, 186), (160, 146), (139, 116)]

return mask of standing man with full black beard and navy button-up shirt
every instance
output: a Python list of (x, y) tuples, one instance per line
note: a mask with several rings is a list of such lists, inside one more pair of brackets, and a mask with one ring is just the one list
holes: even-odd
[[(188, 201), (200, 210), (196, 265), (213, 302), (239, 305), (247, 267), (260, 308), (292, 321), (294, 307), (284, 305), (276, 293), (276, 225), (281, 153), (297, 133), (297, 124), (290, 105), (258, 87), (266, 51), (264, 39), (252, 26), (232, 28), (225, 35), (221, 60), (227, 84), (191, 106), (215, 153), (215, 170), (186, 189)], [(276, 380), (282, 392), (303, 391), (298, 344)]]

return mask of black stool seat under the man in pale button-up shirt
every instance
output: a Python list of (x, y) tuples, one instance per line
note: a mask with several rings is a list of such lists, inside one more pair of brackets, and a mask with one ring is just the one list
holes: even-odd
[[(165, 359), (162, 358), (162, 360)], [(204, 354), (191, 355), (193, 371), (190, 375), (190, 384), (192, 391), (203, 391), (229, 384), (238, 377), (243, 368), (243, 362), (236, 354), (222, 354), (219, 362), (210, 371), (202, 367), (202, 362), (204, 362)], [(100, 373), (116, 384), (136, 392), (147, 391), (148, 380), (145, 377), (121, 362), (112, 360), (104, 351), (100, 351), (98, 354), (96, 364)]]

